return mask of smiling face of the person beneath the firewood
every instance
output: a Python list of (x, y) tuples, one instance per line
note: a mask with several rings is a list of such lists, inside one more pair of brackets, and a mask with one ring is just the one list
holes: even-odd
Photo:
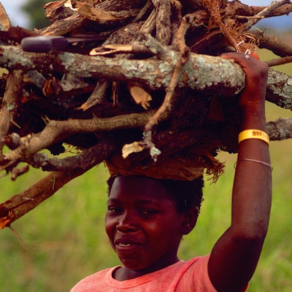
[(155, 270), (178, 260), (183, 217), (158, 180), (120, 176), (110, 192), (106, 232), (124, 266)]

